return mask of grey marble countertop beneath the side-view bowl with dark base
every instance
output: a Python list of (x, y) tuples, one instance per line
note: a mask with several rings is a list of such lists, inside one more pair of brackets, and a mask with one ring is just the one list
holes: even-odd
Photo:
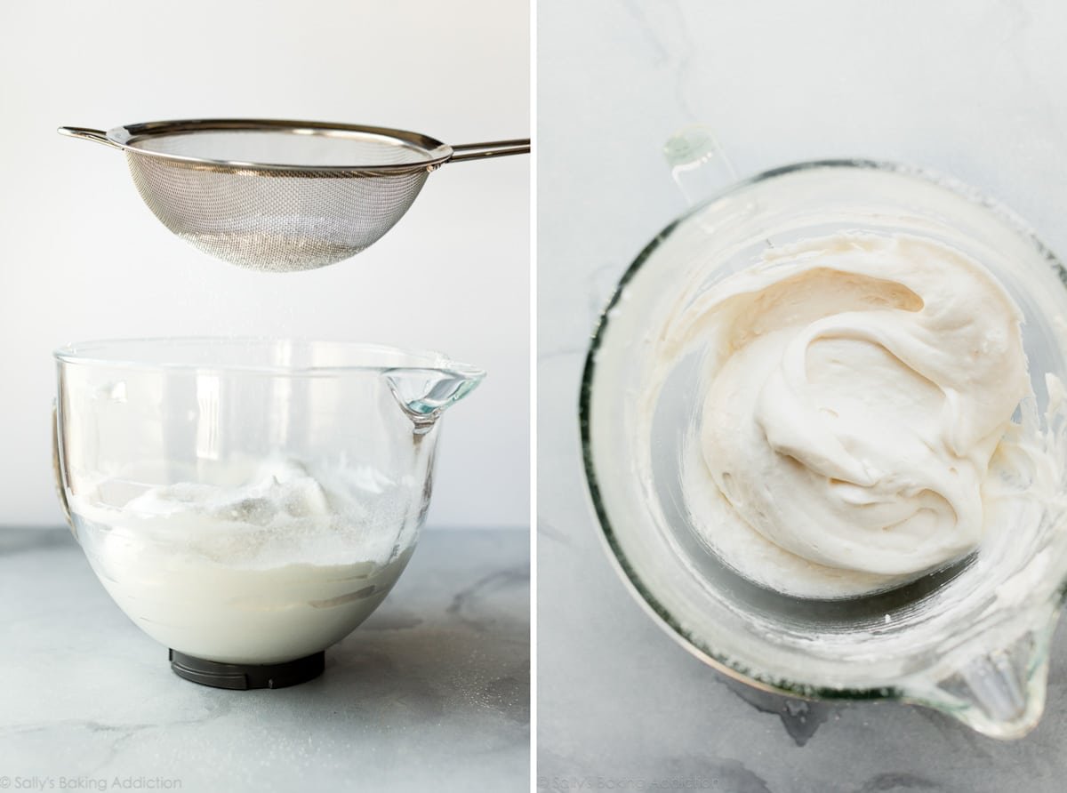
[(528, 789), (525, 532), (425, 532), (290, 688), (179, 679), (66, 529), (0, 528), (0, 791)]

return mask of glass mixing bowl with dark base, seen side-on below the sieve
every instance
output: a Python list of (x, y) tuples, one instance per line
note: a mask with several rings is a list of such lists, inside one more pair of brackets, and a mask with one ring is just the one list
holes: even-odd
[(434, 352), (239, 338), (55, 352), (60, 499), (172, 667), (315, 677), (388, 594), (429, 506), (443, 412), (481, 370)]

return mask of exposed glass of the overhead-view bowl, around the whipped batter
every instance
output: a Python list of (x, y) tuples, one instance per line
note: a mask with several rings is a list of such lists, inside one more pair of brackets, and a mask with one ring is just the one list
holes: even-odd
[[(1040, 717), (1049, 641), (1067, 581), (1064, 504), (1032, 505), (1032, 530), (892, 591), (806, 600), (755, 585), (701, 540), (683, 492), (702, 406), (699, 343), (650, 385), (667, 315), (759, 258), (768, 244), (841, 231), (906, 233), (988, 267), (1024, 314), (1041, 427), (1067, 469), (1060, 391), (1067, 378), (1067, 273), (1025, 225), (943, 177), (888, 163), (791, 165), (743, 181), (665, 228), (623, 276), (586, 363), (580, 424), (592, 503), (610, 553), (647, 610), (706, 663), (792, 696), (895, 698), (999, 738)], [(643, 412), (642, 412), (643, 411)], [(648, 416), (642, 419), (642, 416)]]

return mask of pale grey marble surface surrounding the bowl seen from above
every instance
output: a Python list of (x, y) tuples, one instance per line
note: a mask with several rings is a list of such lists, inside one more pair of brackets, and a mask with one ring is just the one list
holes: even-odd
[[(541, 0), (538, 783), (729, 793), (1060, 791), (1067, 631), (1025, 739), (802, 702), (704, 666), (632, 600), (587, 504), (577, 399), (600, 307), (685, 202), (660, 154), (711, 124), (740, 175), (865, 156), (952, 174), (1067, 252), (1067, 6)], [(628, 784), (628, 788), (625, 786)]]

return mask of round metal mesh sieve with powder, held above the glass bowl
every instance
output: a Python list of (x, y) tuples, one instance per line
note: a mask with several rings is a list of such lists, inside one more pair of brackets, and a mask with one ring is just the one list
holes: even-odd
[(529, 152), (318, 122), (180, 121), (60, 132), (123, 149), (141, 197), (205, 253), (267, 271), (340, 261), (380, 239), (445, 162)]

